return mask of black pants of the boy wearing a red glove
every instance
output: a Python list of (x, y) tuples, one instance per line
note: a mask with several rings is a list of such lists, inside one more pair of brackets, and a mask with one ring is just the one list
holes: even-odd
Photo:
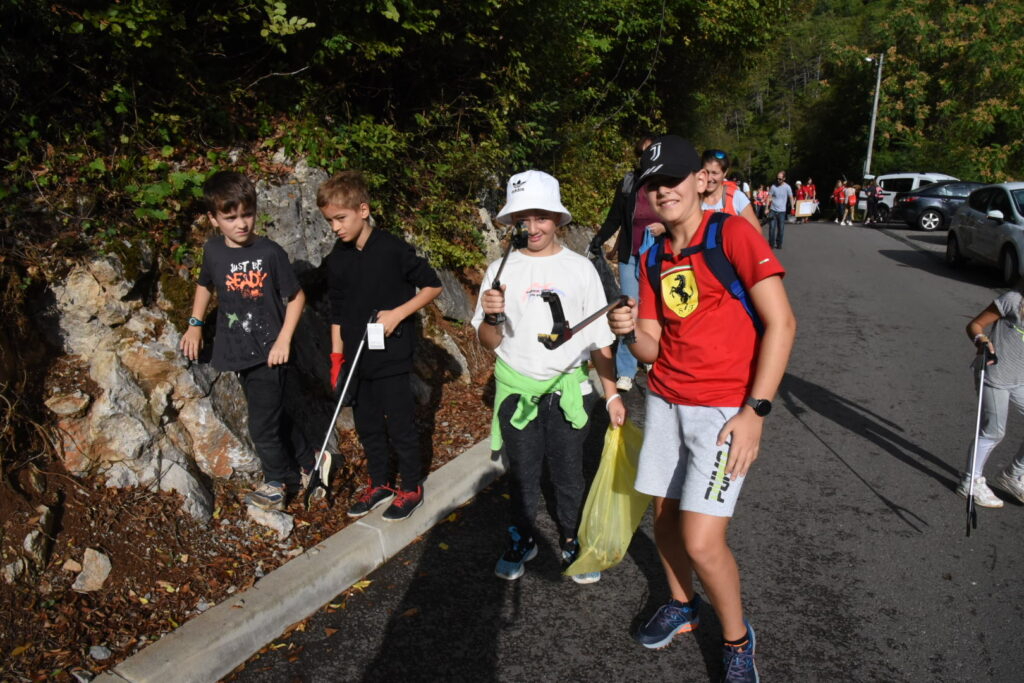
[(379, 379), (359, 378), (352, 409), (355, 431), (367, 454), (370, 481), (379, 486), (391, 481), (390, 446), (398, 457), (402, 490), (414, 490), (423, 478), (416, 410), (409, 373)]

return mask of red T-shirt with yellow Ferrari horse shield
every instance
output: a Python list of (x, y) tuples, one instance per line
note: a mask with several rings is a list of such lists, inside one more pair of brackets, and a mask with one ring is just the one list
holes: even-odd
[[(703, 243), (708, 218), (689, 246)], [(723, 249), (748, 291), (785, 269), (761, 231), (745, 218), (726, 219)], [(679, 258), (666, 240), (662, 263), (662, 341), (647, 378), (651, 391), (683, 405), (742, 405), (754, 381), (760, 338), (739, 300), (708, 268), (702, 254)], [(647, 259), (640, 265), (639, 317), (658, 319), (657, 299), (647, 279)]]

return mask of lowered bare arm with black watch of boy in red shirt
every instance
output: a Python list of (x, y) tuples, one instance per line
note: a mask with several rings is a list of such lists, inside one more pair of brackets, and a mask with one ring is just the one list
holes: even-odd
[[(751, 288), (750, 294), (765, 326), (751, 397), (771, 400), (778, 391), (785, 366), (790, 361), (790, 352), (797, 337), (797, 318), (790, 307), (781, 276), (765, 278)], [(732, 437), (727, 474), (734, 477), (746, 475), (758, 458), (763, 428), (764, 418), (758, 416), (750, 405), (743, 405), (739, 413), (725, 423), (719, 432), (718, 444), (722, 445)]]

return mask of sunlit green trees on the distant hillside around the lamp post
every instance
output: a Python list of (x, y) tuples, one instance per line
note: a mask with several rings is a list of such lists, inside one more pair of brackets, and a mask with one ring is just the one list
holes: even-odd
[(772, 26), (758, 59), (723, 81), (734, 87), (694, 98), (698, 137), (749, 159), (741, 172), (766, 179), (788, 168), (819, 186), (859, 179), (878, 66), (865, 57), (884, 52), (872, 173), (1024, 175), (1024, 3), (801, 4)]

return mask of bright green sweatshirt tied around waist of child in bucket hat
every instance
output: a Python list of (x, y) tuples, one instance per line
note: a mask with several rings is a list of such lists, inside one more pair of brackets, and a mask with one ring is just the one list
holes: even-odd
[(498, 410), (512, 394), (519, 394), (519, 402), (512, 414), (512, 426), (522, 429), (537, 417), (541, 396), (561, 392), (558, 407), (573, 429), (583, 429), (587, 424), (587, 409), (583, 404), (580, 385), (587, 380), (583, 367), (552, 377), (550, 380), (535, 380), (518, 373), (510, 365), (498, 358), (495, 365), (495, 416), (490, 421), (490, 450), (502, 447), (502, 430), (498, 424)]

